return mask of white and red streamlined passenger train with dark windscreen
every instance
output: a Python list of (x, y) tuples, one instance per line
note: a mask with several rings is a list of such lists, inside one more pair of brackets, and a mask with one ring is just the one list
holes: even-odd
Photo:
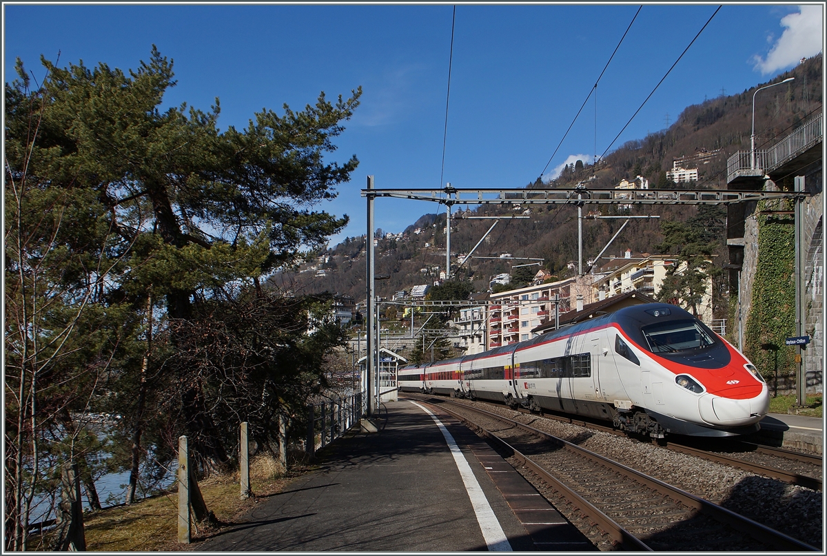
[(398, 381), (400, 391), (562, 411), (655, 438), (753, 433), (769, 408), (758, 369), (670, 304), (634, 305), (502, 348), (409, 365)]

